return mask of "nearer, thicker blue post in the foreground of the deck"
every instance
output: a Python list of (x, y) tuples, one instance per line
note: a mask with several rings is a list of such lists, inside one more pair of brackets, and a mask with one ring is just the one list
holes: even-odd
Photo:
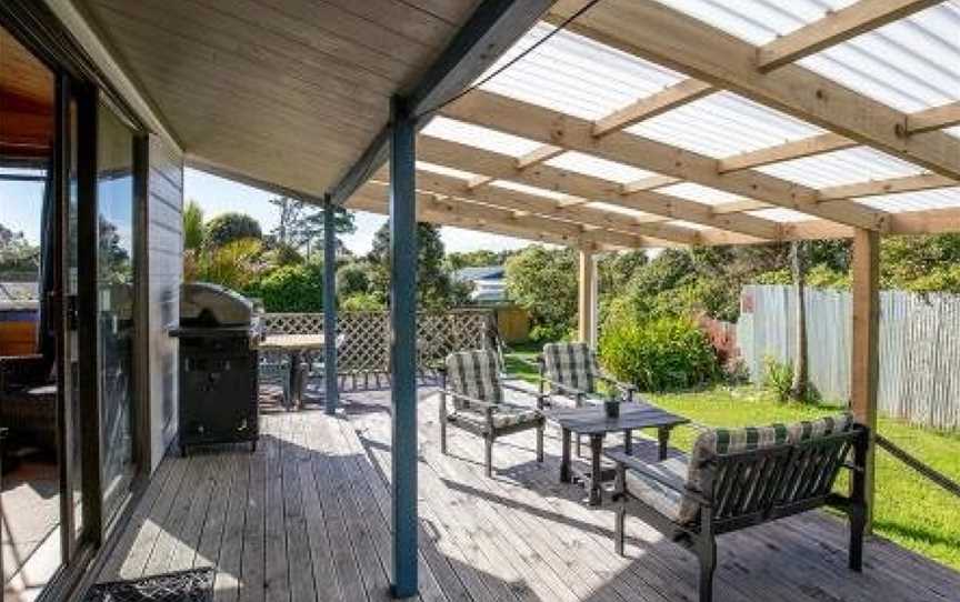
[(390, 106), (390, 371), (393, 402), (393, 595), (417, 594), (417, 130), (403, 99)]

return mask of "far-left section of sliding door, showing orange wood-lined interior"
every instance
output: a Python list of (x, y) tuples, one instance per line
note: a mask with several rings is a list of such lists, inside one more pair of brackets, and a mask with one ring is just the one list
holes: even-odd
[(53, 73), (0, 28), (0, 522), (3, 600), (62, 563), (57, 428)]

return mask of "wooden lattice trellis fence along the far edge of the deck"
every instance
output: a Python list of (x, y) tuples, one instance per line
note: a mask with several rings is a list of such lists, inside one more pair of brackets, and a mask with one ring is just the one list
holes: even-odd
[[(322, 313), (267, 313), (268, 334), (317, 334), (323, 331)], [(490, 310), (421, 312), (417, 315), (417, 365), (422, 371), (437, 367), (452, 351), (489, 349), (493, 345), (496, 320)], [(390, 313), (386, 311), (342, 312), (337, 317), (337, 349), (341, 374), (390, 371)]]

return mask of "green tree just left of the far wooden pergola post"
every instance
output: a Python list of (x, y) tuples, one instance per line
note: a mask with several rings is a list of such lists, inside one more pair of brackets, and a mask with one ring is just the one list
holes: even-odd
[(534, 339), (559, 339), (577, 318), (578, 259), (572, 249), (530, 245), (507, 260), (507, 295), (530, 312)]

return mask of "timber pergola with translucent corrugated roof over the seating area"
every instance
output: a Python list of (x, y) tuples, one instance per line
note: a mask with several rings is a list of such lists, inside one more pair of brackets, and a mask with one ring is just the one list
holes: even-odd
[(960, 7), (837, 4), (560, 0), (466, 93), (399, 106), (389, 169), (381, 140), (331, 194), (389, 212), (394, 257), (414, 218), (579, 249), (591, 341), (599, 251), (852, 239), (851, 408), (876, 428), (880, 238), (960, 231)]

